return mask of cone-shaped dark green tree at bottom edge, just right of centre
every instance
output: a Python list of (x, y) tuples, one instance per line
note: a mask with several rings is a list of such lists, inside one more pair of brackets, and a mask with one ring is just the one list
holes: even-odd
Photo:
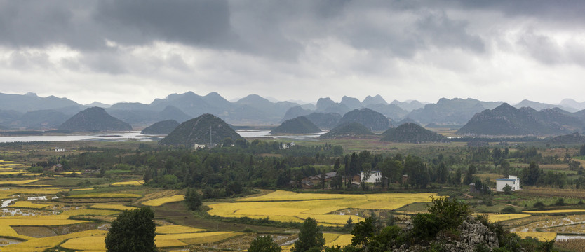
[(323, 231), (318, 227), (317, 221), (314, 218), (307, 218), (304, 220), (299, 232), (299, 239), (295, 241), (291, 252), (304, 252), (309, 250), (321, 251), (325, 245), (325, 238), (323, 238)]

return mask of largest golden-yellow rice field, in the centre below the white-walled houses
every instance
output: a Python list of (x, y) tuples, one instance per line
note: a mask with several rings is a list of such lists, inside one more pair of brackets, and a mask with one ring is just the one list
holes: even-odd
[(269, 218), (274, 221), (302, 222), (315, 218), (321, 225), (344, 225), (363, 218), (355, 215), (328, 214), (340, 209), (397, 209), (413, 202), (431, 202), (434, 193), (380, 193), (374, 195), (342, 195), (293, 193), (277, 190), (236, 202), (210, 204), (208, 214), (223, 217)]

